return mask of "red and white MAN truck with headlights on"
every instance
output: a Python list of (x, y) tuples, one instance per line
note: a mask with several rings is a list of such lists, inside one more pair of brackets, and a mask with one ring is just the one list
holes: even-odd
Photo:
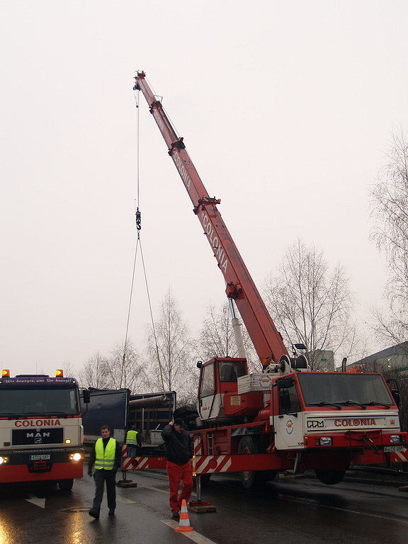
[(47, 480), (69, 491), (82, 477), (83, 443), (77, 380), (2, 371), (0, 484)]

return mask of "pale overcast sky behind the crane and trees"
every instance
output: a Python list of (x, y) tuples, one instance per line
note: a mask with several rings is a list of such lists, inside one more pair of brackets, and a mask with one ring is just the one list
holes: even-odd
[[(0, 364), (76, 368), (122, 341), (144, 69), (258, 286), (298, 236), (380, 303), (368, 187), (408, 127), (406, 0), (0, 1)], [(224, 280), (140, 97), (153, 310), (196, 332)], [(137, 267), (130, 336), (149, 313)], [(376, 346), (373, 346), (375, 350)]]

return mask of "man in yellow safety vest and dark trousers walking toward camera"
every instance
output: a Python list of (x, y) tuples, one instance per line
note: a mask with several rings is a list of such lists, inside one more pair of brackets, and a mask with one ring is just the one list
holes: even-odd
[(116, 471), (120, 467), (120, 444), (111, 438), (111, 429), (108, 425), (101, 426), (101, 436), (94, 444), (89, 455), (88, 474), (92, 476), (92, 467), (95, 467), (95, 497), (89, 516), (99, 519), (103, 499), (103, 485), (106, 482), (106, 498), (108, 499), (109, 516), (115, 515), (116, 508)]

